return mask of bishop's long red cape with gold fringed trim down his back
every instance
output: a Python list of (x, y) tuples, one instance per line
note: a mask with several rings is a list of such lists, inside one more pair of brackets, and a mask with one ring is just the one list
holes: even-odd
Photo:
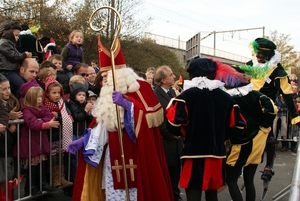
[[(134, 149), (137, 150), (135, 155), (137, 164), (137, 168), (135, 169), (138, 189), (137, 200), (173, 201), (172, 186), (162, 146), (162, 137), (158, 127), (163, 121), (163, 110), (150, 85), (144, 81), (138, 82), (140, 89), (134, 93), (126, 94), (128, 100), (134, 105), (137, 143), (132, 146), (135, 146)], [(123, 132), (125, 134), (125, 129), (123, 129)], [(114, 137), (116, 136), (114, 135)], [(89, 166), (83, 160), (83, 155), (80, 154), (74, 184), (73, 201), (94, 201), (92, 199), (96, 198), (82, 196), (87, 193), (88, 189), (85, 182), (88, 177), (85, 174), (87, 173), (87, 168), (91, 170)], [(130, 174), (127, 174), (127, 179), (130, 179), (130, 176)], [(101, 183), (101, 180), (94, 179), (94, 181)], [(89, 191), (94, 191), (92, 190), (94, 189), (93, 187), (90, 187)], [(99, 197), (96, 200), (101, 200)]]

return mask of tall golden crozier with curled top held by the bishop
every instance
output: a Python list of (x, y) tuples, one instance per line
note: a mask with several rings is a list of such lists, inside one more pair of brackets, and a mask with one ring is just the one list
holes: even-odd
[[(107, 25), (106, 24), (102, 24), (102, 26), (100, 28), (96, 28), (93, 26), (92, 22), (93, 22), (93, 19), (95, 18), (96, 16), (96, 13), (100, 10), (103, 10), (103, 9), (110, 9), (112, 10), (118, 17), (118, 28), (117, 28), (117, 31), (114, 35), (114, 40), (111, 44), (111, 47), (110, 47), (110, 59), (111, 59), (111, 66), (112, 66), (112, 78), (113, 78), (113, 87), (114, 87), (114, 90), (116, 90), (117, 88), (117, 83), (116, 83), (116, 69), (115, 69), (115, 60), (114, 60), (114, 49), (115, 49), (115, 46), (116, 46), (116, 41), (119, 37), (119, 34), (120, 34), (120, 31), (121, 31), (121, 27), (122, 27), (122, 21), (121, 21), (121, 16), (119, 14), (119, 12), (110, 7), (110, 6), (103, 6), (103, 7), (100, 7), (98, 8), (97, 10), (95, 10), (92, 15), (90, 16), (90, 19), (89, 19), (89, 23), (90, 23), (90, 27), (91, 29), (93, 29), (94, 31), (102, 31), (104, 30)], [(121, 120), (120, 120), (120, 111), (119, 111), (119, 107), (116, 105), (116, 112), (117, 112), (117, 121), (118, 121), (118, 136), (119, 136), (119, 144), (120, 144), (120, 151), (121, 151), (121, 158), (122, 158), (122, 169), (123, 169), (123, 175), (124, 175), (124, 184), (125, 184), (125, 191), (126, 191), (126, 200), (129, 201), (130, 200), (130, 197), (129, 197), (129, 189), (128, 189), (128, 183), (127, 183), (127, 175), (126, 175), (126, 166), (125, 166), (125, 157), (124, 157), (124, 148), (123, 148), (123, 140), (122, 140), (122, 128), (121, 128)]]

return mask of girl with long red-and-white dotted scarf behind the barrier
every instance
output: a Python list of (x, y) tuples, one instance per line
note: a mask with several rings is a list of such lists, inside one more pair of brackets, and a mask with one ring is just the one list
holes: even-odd
[[(44, 105), (50, 110), (50, 112), (52, 112), (56, 120), (61, 123), (62, 136), (61, 144), (59, 129), (52, 129), (52, 186), (54, 187), (61, 185), (68, 186), (72, 184), (65, 179), (63, 157), (61, 157), (61, 163), (59, 163), (59, 154), (66, 150), (67, 145), (72, 142), (73, 137), (72, 119), (67, 112), (62, 96), (63, 89), (61, 84), (58, 83), (53, 76), (46, 77)], [(60, 164), (61, 167), (59, 167)]]

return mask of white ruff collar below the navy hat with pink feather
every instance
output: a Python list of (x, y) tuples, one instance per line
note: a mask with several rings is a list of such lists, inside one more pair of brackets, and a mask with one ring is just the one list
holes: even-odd
[(199, 89), (208, 89), (210, 91), (220, 88), (223, 89), (224, 83), (220, 80), (210, 80), (207, 77), (195, 77), (192, 80), (184, 80), (183, 90), (191, 87), (198, 87)]

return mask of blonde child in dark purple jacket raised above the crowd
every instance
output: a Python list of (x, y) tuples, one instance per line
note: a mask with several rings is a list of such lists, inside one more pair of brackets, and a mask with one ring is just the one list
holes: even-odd
[(69, 42), (61, 52), (65, 63), (65, 73), (71, 78), (73, 76), (72, 68), (83, 62), (83, 33), (80, 30), (74, 30), (69, 35)]

